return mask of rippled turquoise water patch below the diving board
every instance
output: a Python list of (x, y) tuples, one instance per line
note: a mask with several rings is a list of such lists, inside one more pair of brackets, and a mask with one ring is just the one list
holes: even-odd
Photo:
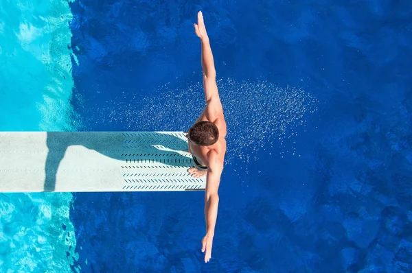
[(71, 193), (1, 194), (0, 268), (71, 272), (78, 259), (69, 219), (72, 201)]

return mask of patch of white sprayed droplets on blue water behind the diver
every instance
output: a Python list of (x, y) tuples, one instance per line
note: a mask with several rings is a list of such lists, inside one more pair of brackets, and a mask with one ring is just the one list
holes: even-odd
[[(227, 163), (233, 158), (249, 161), (251, 156), (256, 158), (250, 150), (257, 152), (265, 145), (282, 147), (284, 141), (292, 145), (285, 151), (280, 149), (279, 156), (286, 151), (296, 154), (291, 139), (297, 136), (295, 128), (306, 126), (306, 119), (317, 110), (315, 97), (302, 88), (281, 87), (266, 81), (223, 78), (217, 83), (227, 122)], [(201, 115), (204, 99), (201, 82), (181, 90), (165, 84), (150, 97), (134, 97), (133, 104), (100, 110), (110, 113), (104, 117), (104, 123), (123, 123), (128, 130), (188, 130)]]

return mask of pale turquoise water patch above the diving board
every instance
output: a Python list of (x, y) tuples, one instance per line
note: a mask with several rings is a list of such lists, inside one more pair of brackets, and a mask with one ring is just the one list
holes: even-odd
[(73, 130), (67, 1), (0, 6), (0, 130)]

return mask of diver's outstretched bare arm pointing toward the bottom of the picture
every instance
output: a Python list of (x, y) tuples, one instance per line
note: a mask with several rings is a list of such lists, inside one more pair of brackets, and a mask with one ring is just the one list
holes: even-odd
[(220, 176), (222, 175), (223, 164), (218, 161), (217, 153), (212, 151), (209, 157), (209, 169), (206, 178), (205, 191), (205, 219), (206, 219), (206, 235), (202, 240), (202, 252), (205, 252), (205, 262), (207, 263), (211, 257), (211, 247), (213, 245), (214, 230), (216, 219), (218, 217), (219, 195), (218, 188), (220, 184)]

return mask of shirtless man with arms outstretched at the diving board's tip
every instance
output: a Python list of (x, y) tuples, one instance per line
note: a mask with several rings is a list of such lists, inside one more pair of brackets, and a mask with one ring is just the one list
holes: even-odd
[(216, 218), (218, 217), (218, 188), (226, 154), (226, 121), (216, 85), (216, 70), (206, 33), (202, 12), (198, 12), (198, 24), (194, 24), (196, 35), (201, 38), (203, 86), (206, 107), (194, 125), (187, 132), (189, 150), (194, 166), (189, 173), (194, 178), (206, 175), (205, 218), (206, 235), (202, 240), (205, 262), (211, 257)]

